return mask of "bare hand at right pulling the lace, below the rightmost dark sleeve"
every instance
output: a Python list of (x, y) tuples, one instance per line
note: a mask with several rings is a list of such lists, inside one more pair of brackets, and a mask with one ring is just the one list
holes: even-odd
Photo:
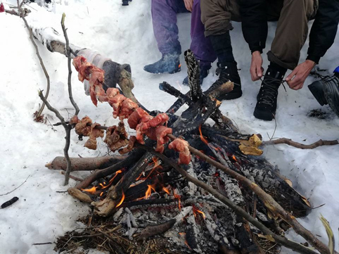
[(315, 65), (316, 63), (311, 60), (306, 60), (304, 63), (300, 63), (300, 65), (298, 65), (293, 72), (286, 77), (286, 81), (290, 89), (302, 89), (309, 72), (311, 72)]

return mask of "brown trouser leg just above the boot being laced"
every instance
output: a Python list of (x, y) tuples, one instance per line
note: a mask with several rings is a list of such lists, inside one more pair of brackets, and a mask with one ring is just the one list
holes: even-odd
[(308, 34), (308, 22), (314, 16), (317, 0), (284, 0), (276, 35), (267, 53), (269, 61), (293, 70)]

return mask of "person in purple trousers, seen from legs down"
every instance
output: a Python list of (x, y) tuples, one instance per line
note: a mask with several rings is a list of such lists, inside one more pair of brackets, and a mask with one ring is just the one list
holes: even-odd
[[(151, 73), (175, 73), (181, 70), (179, 56), (181, 45), (178, 37), (177, 13), (191, 11), (191, 51), (200, 61), (200, 83), (207, 77), (211, 63), (217, 59), (204, 36), (204, 25), (200, 20), (200, 0), (152, 0), (152, 20), (155, 39), (162, 58), (143, 69)], [(186, 77), (184, 84), (188, 84)]]

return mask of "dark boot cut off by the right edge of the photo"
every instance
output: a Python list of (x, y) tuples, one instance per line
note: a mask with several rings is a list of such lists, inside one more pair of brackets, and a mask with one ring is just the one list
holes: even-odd
[(321, 106), (328, 104), (339, 117), (339, 73), (317, 80), (308, 87)]

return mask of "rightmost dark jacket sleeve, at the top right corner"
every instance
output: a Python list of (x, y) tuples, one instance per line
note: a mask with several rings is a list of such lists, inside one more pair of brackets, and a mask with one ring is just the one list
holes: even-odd
[(319, 9), (309, 34), (307, 59), (319, 63), (334, 42), (338, 22), (339, 0), (319, 0)]

